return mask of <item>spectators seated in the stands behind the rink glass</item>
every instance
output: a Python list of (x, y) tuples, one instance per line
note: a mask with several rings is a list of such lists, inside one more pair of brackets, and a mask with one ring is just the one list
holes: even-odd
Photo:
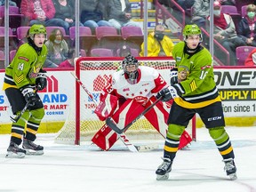
[[(182, 9), (186, 12), (186, 24), (196, 24), (203, 28), (203, 35), (209, 38), (209, 23), (213, 19), (213, 36), (214, 36), (214, 52), (221, 58), (226, 58), (228, 62), (220, 59), (222, 65), (237, 65), (236, 48), (241, 46), (252, 46), (256, 48), (256, 5), (254, 1), (235, 0), (215, 0), (213, 2), (213, 18), (210, 18), (210, 0), (193, 0), (184, 1), (176, 0), (175, 6), (170, 1), (158, 0), (158, 4), (168, 6), (170, 12), (178, 12)], [(5, 1), (0, 0), (0, 6), (4, 6)], [(79, 27), (80, 27), (80, 53), (81, 56), (92, 56), (92, 49), (108, 48), (112, 45), (111, 52), (97, 53), (97, 56), (116, 56), (124, 57), (127, 54), (133, 56), (144, 56), (145, 44), (143, 36), (148, 36), (148, 56), (172, 56), (172, 49), (175, 44), (175, 37), (168, 35), (170, 28), (164, 23), (156, 23), (155, 28), (143, 34), (142, 25), (134, 20), (132, 12), (132, 3), (129, 0), (79, 0)], [(180, 6), (177, 9), (177, 4)], [(20, 15), (20, 26), (12, 26), (12, 35), (14, 36), (10, 42), (10, 48), (17, 50), (20, 46), (21, 39), (18, 38), (20, 30), (18, 28), (28, 28), (33, 24), (43, 24), (47, 30), (47, 39), (45, 45), (48, 48), (48, 55), (44, 67), (58, 68), (61, 66), (74, 66), (72, 62), (75, 52), (74, 32), (71, 28), (76, 27), (76, 7), (73, 0), (10, 0), (10, 7), (18, 7), (16, 15)], [(156, 0), (153, 1), (153, 9)], [(227, 7), (236, 7), (237, 12), (226, 11)], [(175, 15), (175, 14), (173, 14)], [(12, 17), (10, 15), (10, 17)], [(16, 16), (17, 17), (17, 16)], [(2, 20), (2, 22), (1, 22)], [(0, 18), (1, 26), (4, 26), (3, 18)], [(108, 27), (115, 30), (115, 33), (108, 34), (108, 30), (104, 34), (97, 34), (96, 28)], [(122, 28), (140, 28), (140, 34), (132, 34), (137, 36), (128, 41), (127, 36), (122, 36)], [(182, 26), (181, 26), (182, 28)], [(133, 29), (132, 29), (133, 30)], [(137, 30), (137, 29), (136, 29)], [(110, 29), (109, 29), (110, 31)], [(133, 30), (133, 32), (135, 29)], [(102, 33), (102, 32), (101, 32)], [(171, 29), (172, 33), (172, 29)], [(71, 38), (73, 36), (73, 38)], [(180, 36), (176, 37), (182, 40)], [(108, 39), (106, 43), (106, 39)], [(134, 40), (135, 39), (135, 40)], [(142, 42), (141, 42), (142, 39)], [(24, 41), (24, 39), (22, 39)], [(102, 43), (102, 42), (105, 43)], [(128, 43), (127, 43), (128, 42)], [(207, 40), (203, 44), (209, 48)], [(114, 47), (113, 47), (114, 46)], [(125, 49), (123, 49), (125, 48)], [(0, 47), (0, 52), (4, 48)], [(122, 52), (121, 52), (122, 51)], [(1, 56), (2, 54), (0, 54)], [(247, 54), (248, 57), (251, 54)], [(10, 60), (11, 61), (11, 60)], [(252, 60), (251, 60), (252, 61)], [(64, 64), (61, 64), (63, 63)], [(66, 63), (66, 64), (65, 64)], [(60, 65), (61, 64), (61, 65)]]

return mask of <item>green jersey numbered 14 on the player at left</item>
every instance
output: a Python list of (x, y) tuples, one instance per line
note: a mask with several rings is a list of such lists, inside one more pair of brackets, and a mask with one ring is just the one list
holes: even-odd
[(20, 89), (27, 85), (35, 85), (36, 76), (41, 68), (43, 68), (44, 61), (47, 56), (47, 48), (42, 47), (41, 52), (27, 44), (22, 44), (13, 58), (11, 64), (5, 69), (4, 87)]

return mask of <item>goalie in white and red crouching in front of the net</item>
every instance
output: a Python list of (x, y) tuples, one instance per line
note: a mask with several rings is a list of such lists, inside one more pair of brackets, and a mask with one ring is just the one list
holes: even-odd
[[(156, 93), (166, 86), (164, 78), (155, 68), (139, 66), (138, 60), (128, 55), (122, 61), (122, 68), (112, 75), (108, 85), (100, 93), (100, 104), (94, 112), (101, 121), (111, 116), (118, 127), (124, 128), (156, 101)], [(144, 116), (165, 138), (169, 113), (163, 102), (157, 102)], [(104, 124), (93, 136), (92, 142), (101, 149), (108, 150), (118, 139), (119, 135)], [(190, 142), (191, 137), (184, 131), (179, 148), (184, 148)]]

